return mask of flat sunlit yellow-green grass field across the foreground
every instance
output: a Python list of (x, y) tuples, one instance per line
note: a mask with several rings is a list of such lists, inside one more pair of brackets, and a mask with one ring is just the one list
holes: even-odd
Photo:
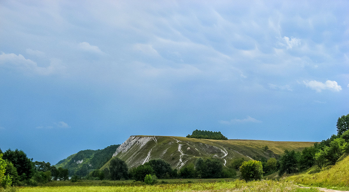
[[(222, 179), (221, 179), (222, 180)], [(168, 181), (166, 181), (168, 182)], [(171, 181), (170, 181), (171, 182)], [(79, 184), (80, 183), (80, 184)], [(81, 185), (83, 182), (75, 184)], [(86, 182), (88, 183), (88, 182)], [(119, 185), (122, 182), (114, 182)], [(91, 184), (91, 183), (90, 183)], [(125, 181), (121, 186), (93, 186), (102, 184), (96, 182), (91, 186), (40, 186), (40, 187), (22, 187), (18, 192), (179, 192), (179, 191), (245, 191), (245, 192), (317, 192), (317, 189), (299, 188), (292, 182), (276, 182), (272, 180), (263, 180), (258, 182), (245, 183), (241, 180), (230, 182), (207, 182), (206, 180), (198, 183), (188, 183), (182, 181), (181, 183), (163, 184), (159, 182), (155, 185), (132, 185), (132, 182)]]

